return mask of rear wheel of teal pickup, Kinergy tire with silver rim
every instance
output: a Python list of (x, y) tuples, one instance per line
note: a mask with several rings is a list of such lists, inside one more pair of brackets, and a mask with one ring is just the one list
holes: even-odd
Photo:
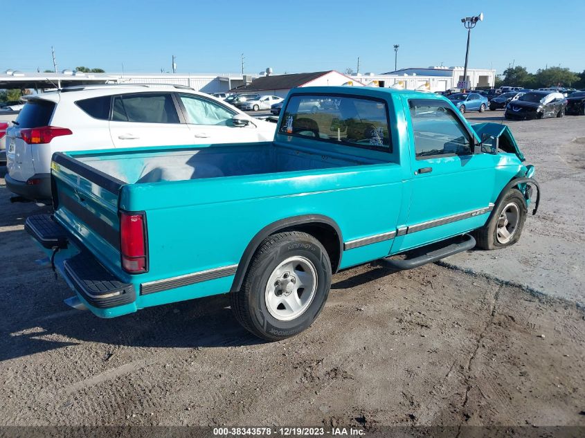
[(329, 255), (317, 239), (305, 232), (280, 232), (256, 250), (242, 289), (230, 293), (231, 309), (255, 336), (269, 341), (289, 338), (321, 313), (331, 275)]

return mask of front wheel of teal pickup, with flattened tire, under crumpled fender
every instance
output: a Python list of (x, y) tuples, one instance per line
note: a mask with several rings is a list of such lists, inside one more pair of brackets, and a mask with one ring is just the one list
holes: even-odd
[(494, 208), (485, 226), (475, 231), (476, 246), (492, 250), (514, 245), (522, 234), (527, 211), (520, 190), (510, 189)]

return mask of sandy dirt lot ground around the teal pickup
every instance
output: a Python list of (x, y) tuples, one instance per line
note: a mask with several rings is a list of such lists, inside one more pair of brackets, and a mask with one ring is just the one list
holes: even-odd
[[(583, 171), (582, 140), (573, 149), (561, 144), (585, 138), (585, 118), (539, 122), (512, 129), (529, 161), (548, 163), (541, 175), (558, 193), (546, 194), (545, 219), (528, 219), (514, 251), (538, 248), (535, 236), (554, 210), (545, 202), (572, 193), (555, 186), (554, 167)], [(544, 145), (525, 147), (535, 129), (559, 138), (554, 154), (566, 152), (566, 163), (555, 165), (559, 156), (549, 159)], [(573, 175), (583, 183), (582, 173)], [(585, 427), (583, 290), (563, 295), (581, 278), (561, 283), (564, 259), (548, 260), (561, 291), (550, 295), (564, 298), (534, 292), (548, 290), (535, 284), (538, 264), (526, 265), (517, 281), (524, 287), (510, 286), (498, 264), (483, 263), (489, 278), (453, 259), (394, 274), (361, 266), (334, 276), (311, 329), (262, 343), (237, 325), (224, 296), (114, 320), (68, 309), (62, 300), (71, 292), (35, 264), (42, 253), (22, 226), (48, 208), (10, 204), (0, 185), (0, 425)], [(558, 247), (566, 252), (564, 241), (582, 242), (583, 217), (561, 213)], [(518, 254), (511, 250), (467, 257), (508, 264)], [(571, 257), (582, 271), (581, 255)]]

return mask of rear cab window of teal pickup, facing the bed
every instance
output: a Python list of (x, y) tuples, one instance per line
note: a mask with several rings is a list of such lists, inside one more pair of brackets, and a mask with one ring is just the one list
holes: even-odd
[(384, 100), (345, 95), (292, 95), (278, 132), (288, 136), (392, 152)]

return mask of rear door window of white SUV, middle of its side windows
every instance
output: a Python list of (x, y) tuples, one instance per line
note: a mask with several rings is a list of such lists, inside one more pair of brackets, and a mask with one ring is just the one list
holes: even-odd
[(116, 96), (111, 120), (115, 122), (179, 123), (179, 116), (169, 93), (143, 93)]

